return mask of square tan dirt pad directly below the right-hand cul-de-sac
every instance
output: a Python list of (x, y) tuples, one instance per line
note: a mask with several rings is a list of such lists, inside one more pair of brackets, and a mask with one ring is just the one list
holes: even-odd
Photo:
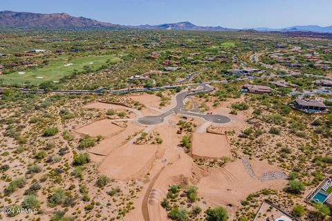
[(226, 135), (193, 133), (192, 155), (199, 157), (232, 157)]

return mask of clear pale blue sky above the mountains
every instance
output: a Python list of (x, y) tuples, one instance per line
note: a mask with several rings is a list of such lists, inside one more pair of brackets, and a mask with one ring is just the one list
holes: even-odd
[(0, 10), (66, 12), (123, 25), (190, 21), (199, 26), (332, 26), (332, 0), (1, 0)]

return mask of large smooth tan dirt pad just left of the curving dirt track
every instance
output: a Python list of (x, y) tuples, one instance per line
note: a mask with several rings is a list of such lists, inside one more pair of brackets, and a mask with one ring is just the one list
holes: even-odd
[(149, 172), (158, 151), (156, 145), (125, 144), (112, 151), (98, 171), (117, 180), (139, 179)]

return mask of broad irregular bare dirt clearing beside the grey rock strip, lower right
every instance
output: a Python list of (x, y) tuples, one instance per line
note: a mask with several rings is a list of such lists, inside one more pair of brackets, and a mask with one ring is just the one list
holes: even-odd
[[(255, 168), (265, 168), (266, 163), (257, 164)], [(241, 200), (245, 200), (250, 193), (262, 189), (281, 190), (287, 184), (287, 180), (261, 181), (257, 177), (251, 177), (244, 169), (241, 160), (229, 162), (223, 168), (212, 169), (210, 175), (203, 177), (199, 184), (199, 194), (214, 206), (227, 206), (230, 215), (241, 206)]]

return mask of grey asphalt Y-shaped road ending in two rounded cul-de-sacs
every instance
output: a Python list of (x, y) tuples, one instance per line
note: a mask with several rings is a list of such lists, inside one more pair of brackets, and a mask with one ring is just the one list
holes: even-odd
[(190, 115), (190, 116), (194, 116), (194, 117), (202, 117), (209, 122), (213, 122), (213, 123), (217, 123), (217, 124), (226, 124), (226, 123), (231, 122), (230, 117), (226, 117), (224, 115), (205, 115), (205, 114), (201, 114), (201, 113), (193, 113), (193, 112), (188, 112), (188, 111), (182, 110), (183, 101), (184, 101), (185, 97), (196, 95), (199, 93), (210, 93), (214, 90), (212, 87), (208, 86), (208, 84), (199, 84), (199, 86), (201, 86), (202, 88), (198, 89), (198, 90), (185, 91), (182, 93), (178, 93), (178, 95), (176, 95), (176, 106), (174, 108), (170, 109), (169, 111), (166, 111), (166, 112), (164, 112), (160, 115), (156, 115), (156, 116), (140, 117), (137, 119), (137, 122), (140, 124), (145, 124), (145, 125), (160, 124), (164, 121), (165, 117), (167, 117), (168, 115), (172, 115), (172, 114), (181, 114), (181, 115)]

